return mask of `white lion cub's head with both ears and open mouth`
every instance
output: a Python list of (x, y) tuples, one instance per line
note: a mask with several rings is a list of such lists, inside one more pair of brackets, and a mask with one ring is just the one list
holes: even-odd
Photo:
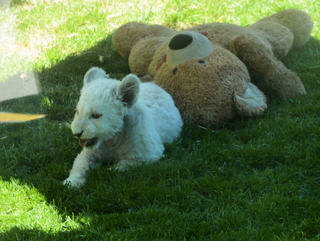
[(82, 147), (99, 148), (121, 131), (124, 116), (136, 103), (140, 81), (135, 75), (121, 82), (110, 79), (100, 68), (91, 68), (84, 76), (84, 86), (71, 123), (72, 133)]

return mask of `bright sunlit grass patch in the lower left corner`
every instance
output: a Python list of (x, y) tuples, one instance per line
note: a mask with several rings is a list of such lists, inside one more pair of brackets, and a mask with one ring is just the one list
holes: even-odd
[[(54, 206), (48, 205), (45, 198), (34, 187), (21, 185), (11, 178), (3, 181), (0, 177), (0, 237), (5, 230), (13, 228), (36, 229), (46, 233), (78, 229), (81, 218), (60, 214)], [(85, 220), (85, 219), (84, 219)]]

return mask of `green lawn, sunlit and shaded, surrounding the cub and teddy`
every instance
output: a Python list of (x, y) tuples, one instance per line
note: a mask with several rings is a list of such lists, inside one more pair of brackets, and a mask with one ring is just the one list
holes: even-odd
[[(124, 173), (103, 166), (80, 189), (62, 185), (81, 150), (66, 123), (85, 72), (130, 73), (112, 46), (117, 27), (245, 26), (286, 8), (307, 11), (315, 23), (309, 42), (282, 60), (306, 95), (268, 99), (262, 116), (237, 117), (220, 129), (184, 126), (154, 165)], [(11, 41), (1, 41), (1, 81), (33, 70), (42, 92), (1, 102), (1, 111), (49, 117), (0, 125), (0, 240), (320, 240), (319, 9), (316, 0), (2, 6)]]

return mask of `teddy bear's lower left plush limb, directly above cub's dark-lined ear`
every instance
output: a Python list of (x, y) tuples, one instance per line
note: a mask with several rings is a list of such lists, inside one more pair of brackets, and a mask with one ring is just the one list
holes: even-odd
[(147, 75), (148, 67), (156, 50), (166, 41), (168, 37), (153, 37), (139, 41), (132, 47), (129, 56), (129, 67), (132, 73)]

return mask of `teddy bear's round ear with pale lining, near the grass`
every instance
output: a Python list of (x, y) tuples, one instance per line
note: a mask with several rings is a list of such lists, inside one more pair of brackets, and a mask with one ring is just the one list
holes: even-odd
[(234, 93), (236, 111), (242, 116), (260, 115), (267, 108), (266, 97), (254, 84), (246, 84), (247, 89), (242, 97)]

